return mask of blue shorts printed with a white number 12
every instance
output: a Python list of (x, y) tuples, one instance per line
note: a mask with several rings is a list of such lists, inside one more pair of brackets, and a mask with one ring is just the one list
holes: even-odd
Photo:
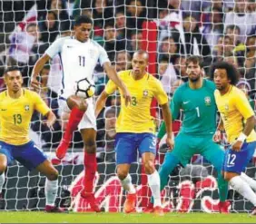
[(225, 151), (225, 159), (222, 170), (227, 172), (241, 173), (247, 167), (253, 157), (256, 148), (256, 141), (244, 142), (241, 151), (232, 151), (231, 148)]

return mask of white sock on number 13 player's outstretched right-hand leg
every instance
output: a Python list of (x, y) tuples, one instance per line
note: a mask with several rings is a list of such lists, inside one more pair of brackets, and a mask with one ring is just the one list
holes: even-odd
[(46, 205), (54, 206), (55, 199), (58, 192), (58, 180), (48, 180), (45, 182), (45, 198)]

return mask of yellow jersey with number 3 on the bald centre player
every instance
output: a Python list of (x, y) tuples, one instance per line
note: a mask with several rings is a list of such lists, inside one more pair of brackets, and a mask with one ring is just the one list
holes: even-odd
[[(145, 73), (140, 80), (134, 80), (132, 70), (118, 73), (132, 95), (132, 102), (126, 106), (121, 97), (121, 112), (116, 122), (116, 132), (155, 132), (154, 118), (151, 116), (151, 102), (155, 97), (160, 105), (168, 102), (167, 94), (162, 88), (162, 83), (150, 73)], [(113, 81), (105, 86), (105, 92), (112, 94), (117, 90)], [(122, 91), (119, 89), (122, 95)]]

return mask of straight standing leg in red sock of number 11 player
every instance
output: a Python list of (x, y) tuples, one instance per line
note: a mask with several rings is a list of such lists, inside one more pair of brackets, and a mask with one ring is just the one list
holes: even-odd
[(81, 135), (84, 141), (84, 190), (81, 196), (87, 200), (96, 212), (102, 211), (94, 198), (94, 180), (97, 171), (96, 161), (96, 131), (93, 128), (82, 129)]

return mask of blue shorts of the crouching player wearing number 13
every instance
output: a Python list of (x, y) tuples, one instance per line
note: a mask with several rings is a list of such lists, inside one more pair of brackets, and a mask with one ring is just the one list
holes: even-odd
[(36, 147), (34, 141), (29, 141), (24, 145), (11, 145), (0, 141), (0, 154), (5, 154), (8, 165), (16, 160), (28, 170), (34, 170), (34, 168), (47, 160), (44, 153)]

